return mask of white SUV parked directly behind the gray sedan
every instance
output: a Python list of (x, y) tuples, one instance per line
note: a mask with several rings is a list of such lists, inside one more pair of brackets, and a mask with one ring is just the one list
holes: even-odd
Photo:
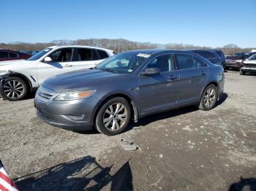
[(68, 71), (94, 68), (114, 55), (113, 50), (88, 46), (53, 46), (28, 60), (0, 62), (0, 95), (18, 101), (49, 77)]

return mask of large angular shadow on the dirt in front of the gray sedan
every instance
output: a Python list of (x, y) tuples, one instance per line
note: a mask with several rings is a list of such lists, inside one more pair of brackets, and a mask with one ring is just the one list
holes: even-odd
[(129, 160), (113, 176), (111, 168), (86, 156), (19, 177), (15, 184), (19, 190), (101, 190), (108, 184), (110, 190), (133, 190)]

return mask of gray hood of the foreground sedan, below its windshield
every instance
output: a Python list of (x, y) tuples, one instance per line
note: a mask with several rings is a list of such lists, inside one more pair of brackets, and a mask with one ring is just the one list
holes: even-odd
[(124, 80), (128, 76), (129, 74), (116, 74), (98, 69), (85, 69), (50, 77), (42, 83), (42, 86), (56, 93), (61, 93), (96, 88), (98, 85), (114, 83), (116, 80)]

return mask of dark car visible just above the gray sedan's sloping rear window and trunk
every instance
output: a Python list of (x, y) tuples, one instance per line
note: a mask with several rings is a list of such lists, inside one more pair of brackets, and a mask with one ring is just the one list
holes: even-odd
[(222, 66), (222, 61), (219, 55), (217, 54), (217, 52), (214, 52), (213, 50), (190, 50), (190, 51), (195, 52), (197, 55), (203, 56), (203, 58), (206, 58), (211, 63)]

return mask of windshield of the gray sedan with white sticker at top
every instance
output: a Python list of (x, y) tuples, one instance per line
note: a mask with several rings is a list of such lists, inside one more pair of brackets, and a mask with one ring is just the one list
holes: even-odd
[(121, 74), (135, 71), (151, 55), (138, 52), (122, 52), (99, 63), (97, 69)]

